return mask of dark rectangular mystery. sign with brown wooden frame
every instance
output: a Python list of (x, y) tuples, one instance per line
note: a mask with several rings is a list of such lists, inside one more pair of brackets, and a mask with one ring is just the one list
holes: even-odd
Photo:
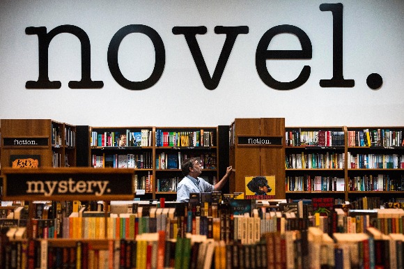
[(133, 199), (133, 169), (4, 169), (3, 198), (11, 200)]

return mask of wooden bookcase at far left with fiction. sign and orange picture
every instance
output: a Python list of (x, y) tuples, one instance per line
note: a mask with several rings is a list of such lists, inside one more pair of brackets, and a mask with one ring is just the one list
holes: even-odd
[(1, 167), (75, 167), (75, 125), (50, 119), (1, 119)]

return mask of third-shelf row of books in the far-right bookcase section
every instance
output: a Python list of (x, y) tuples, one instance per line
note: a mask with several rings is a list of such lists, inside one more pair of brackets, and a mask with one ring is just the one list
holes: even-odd
[(404, 175), (364, 175), (350, 176), (348, 179), (350, 191), (401, 191), (404, 190)]

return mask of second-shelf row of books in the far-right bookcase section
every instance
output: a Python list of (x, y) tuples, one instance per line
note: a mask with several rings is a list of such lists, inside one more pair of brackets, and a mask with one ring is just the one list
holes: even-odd
[(348, 167), (352, 169), (403, 169), (404, 155), (355, 154), (348, 151)]

